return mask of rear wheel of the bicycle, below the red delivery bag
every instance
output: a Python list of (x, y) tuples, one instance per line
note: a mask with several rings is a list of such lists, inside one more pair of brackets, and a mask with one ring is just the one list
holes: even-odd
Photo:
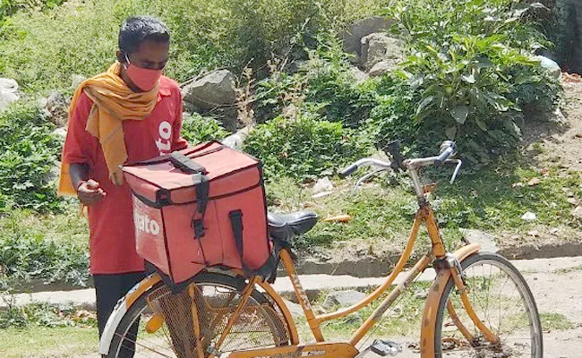
[[(202, 351), (207, 356), (240, 303), (244, 279), (201, 273), (193, 282)], [(193, 299), (173, 294), (163, 282), (141, 294), (116, 328), (108, 358), (201, 358), (194, 337)], [(230, 329), (220, 352), (289, 344), (286, 320), (268, 296), (254, 290)], [(217, 354), (219, 355), (219, 354)]]

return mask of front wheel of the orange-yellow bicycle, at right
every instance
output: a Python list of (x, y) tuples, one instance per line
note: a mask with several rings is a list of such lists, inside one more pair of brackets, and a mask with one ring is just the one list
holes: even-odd
[(542, 358), (540, 318), (518, 269), (494, 253), (477, 253), (463, 260), (461, 267), (477, 317), (498, 339), (490, 342), (475, 326), (451, 277), (437, 312), (436, 357)]

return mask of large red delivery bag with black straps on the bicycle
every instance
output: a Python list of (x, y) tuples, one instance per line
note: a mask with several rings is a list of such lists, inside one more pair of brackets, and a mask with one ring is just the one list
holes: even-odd
[(270, 259), (260, 162), (218, 141), (123, 167), (137, 252), (174, 283)]

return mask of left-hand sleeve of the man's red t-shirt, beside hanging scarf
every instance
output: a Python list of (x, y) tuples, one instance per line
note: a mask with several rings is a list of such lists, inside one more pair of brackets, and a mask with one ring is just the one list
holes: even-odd
[(69, 118), (66, 139), (64, 140), (63, 161), (68, 164), (88, 164), (94, 166), (97, 138), (85, 130), (93, 103), (85, 95), (77, 99)]

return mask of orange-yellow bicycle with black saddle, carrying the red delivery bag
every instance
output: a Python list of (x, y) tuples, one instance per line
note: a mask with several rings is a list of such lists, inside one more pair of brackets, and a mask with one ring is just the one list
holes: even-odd
[[(145, 278), (124, 296), (107, 322), (99, 352), (108, 358), (122, 356), (179, 358), (251, 358), (320, 356), (363, 357), (368, 351), (395, 354), (390, 341), (376, 340), (356, 348), (374, 323), (395, 303), (426, 268), (436, 278), (424, 306), (420, 356), (429, 357), (535, 357), (543, 356), (543, 337), (535, 300), (525, 279), (509, 260), (481, 252), (478, 243), (466, 243), (448, 252), (429, 202), (435, 184), (423, 185), (422, 169), (456, 166), (456, 146), (445, 141), (439, 156), (406, 159), (399, 144), (389, 146), (392, 161), (358, 160), (340, 175), (361, 166), (403, 170), (412, 179), (418, 210), (407, 247), (386, 281), (360, 303), (339, 311), (316, 315), (294, 267), (290, 240), (315, 225), (312, 213), (270, 214), (270, 236), (301, 304), (314, 343), (300, 344), (295, 322), (283, 299), (264, 277), (244, 277), (232, 269), (208, 268), (184, 290), (173, 293), (158, 274)], [(374, 173), (377, 173), (378, 170)], [(364, 175), (356, 185), (372, 174)], [(321, 324), (346, 317), (380, 298), (403, 271), (421, 225), (426, 226), (431, 250), (405, 273), (405, 278), (383, 299), (345, 342), (328, 342)]]

